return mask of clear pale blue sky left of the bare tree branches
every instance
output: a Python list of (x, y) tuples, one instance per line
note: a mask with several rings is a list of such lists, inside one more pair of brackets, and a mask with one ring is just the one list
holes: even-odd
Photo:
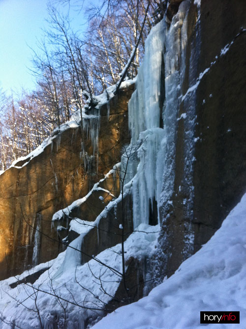
[[(11, 90), (15, 93), (21, 92), (22, 88), (34, 88), (34, 81), (28, 70), (32, 56), (30, 47), (36, 48), (37, 39), (43, 34), (41, 29), (47, 26), (47, 2), (48, 0), (0, 0), (0, 87), (8, 93)], [(90, 5), (92, 1), (86, 2)], [(75, 9), (72, 7), (70, 12), (74, 25), (79, 29), (80, 24), (84, 23), (83, 13), (78, 12), (77, 7), (76, 10), (73, 8)]]

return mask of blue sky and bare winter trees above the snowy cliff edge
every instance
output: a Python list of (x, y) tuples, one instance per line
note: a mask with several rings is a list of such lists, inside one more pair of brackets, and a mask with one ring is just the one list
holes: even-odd
[(75, 111), (82, 119), (94, 94), (136, 76), (149, 9), (149, 0), (0, 0), (2, 170)]

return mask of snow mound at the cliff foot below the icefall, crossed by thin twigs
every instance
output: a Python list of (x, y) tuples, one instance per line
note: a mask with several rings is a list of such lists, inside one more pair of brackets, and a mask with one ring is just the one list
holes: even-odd
[[(145, 224), (141, 224), (138, 228), (139, 231), (134, 232), (124, 243), (125, 259), (127, 260), (131, 256), (138, 258), (149, 256), (154, 252), (154, 245), (157, 239), (157, 233), (159, 227), (153, 227)], [(83, 234), (81, 235), (83, 236)], [(77, 241), (76, 241), (77, 240)], [(72, 242), (76, 247), (81, 242), (81, 237)], [(70, 248), (71, 249), (71, 248)], [(122, 272), (122, 255), (121, 244), (116, 245), (111, 249), (107, 249), (97, 255), (101, 263), (107, 264), (108, 267), (114, 268), (118, 272)], [(58, 302), (58, 298), (52, 295), (57, 295), (62, 302), (62, 305), (66, 307), (66, 328), (84, 328), (84, 319), (88, 317), (96, 319), (98, 316), (102, 316), (102, 307), (111, 298), (109, 295), (114, 295), (119, 286), (121, 276), (116, 271), (112, 271), (105, 266), (99, 264), (96, 260), (91, 260), (88, 264), (79, 264), (79, 253), (77, 259), (69, 257), (69, 248), (59, 254), (59, 256), (50, 262), (51, 268), (45, 271), (38, 280), (33, 284), (33, 287), (39, 289), (37, 293), (36, 306), (33, 302), (33, 290), (29, 284), (19, 285), (16, 288), (11, 289), (9, 284), (16, 281), (15, 278), (9, 278), (0, 282), (1, 294), (0, 294), (0, 311), (2, 312), (5, 321), (15, 321), (16, 326), (25, 329), (39, 328), (39, 320), (36, 310), (40, 312), (40, 317), (44, 328), (51, 328), (49, 322), (57, 317), (60, 322), (60, 327), (64, 326), (64, 314), (61, 305)], [(63, 269), (60, 271), (63, 264)], [(46, 265), (45, 265), (46, 266)], [(43, 268), (44, 265), (38, 265), (34, 268)], [(92, 273), (94, 277), (92, 279)], [(105, 294), (100, 286), (100, 281), (96, 277), (101, 277), (103, 282), (103, 289), (109, 294)], [(79, 283), (78, 283), (79, 282)], [(47, 293), (45, 293), (47, 292)], [(50, 295), (51, 294), (51, 295)], [(16, 300), (14, 300), (16, 299)], [(72, 303), (66, 303), (64, 300), (69, 300)], [(22, 304), (16, 301), (22, 302)], [(78, 304), (77, 306), (74, 305)], [(26, 307), (30, 308), (26, 308)], [(84, 307), (88, 307), (86, 309)], [(90, 308), (92, 308), (90, 310)], [(32, 310), (33, 311), (32, 311)], [(9, 325), (1, 322), (1, 329), (9, 329)]]

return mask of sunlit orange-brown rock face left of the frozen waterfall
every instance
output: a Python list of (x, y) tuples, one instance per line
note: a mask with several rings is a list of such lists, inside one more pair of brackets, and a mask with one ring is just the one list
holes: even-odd
[[(88, 132), (84, 127), (83, 134), (80, 127), (69, 128), (28, 164), (23, 166), (27, 158), (0, 176), (0, 279), (55, 258), (62, 251), (56, 230), (51, 230), (52, 215), (87, 195), (120, 161), (123, 145), (129, 141), (127, 103), (133, 89), (134, 85), (121, 89), (110, 101), (109, 116), (109, 107), (102, 106), (98, 156), (93, 156), (92, 126), (87, 126)], [(108, 184), (112, 188), (111, 182), (104, 182)], [(119, 194), (119, 181), (115, 186), (114, 192)], [(92, 201), (94, 213), (90, 205), (86, 209), (94, 219), (102, 208), (99, 196), (106, 198), (105, 191), (99, 191)], [(105, 204), (110, 200), (112, 197), (107, 197)]]

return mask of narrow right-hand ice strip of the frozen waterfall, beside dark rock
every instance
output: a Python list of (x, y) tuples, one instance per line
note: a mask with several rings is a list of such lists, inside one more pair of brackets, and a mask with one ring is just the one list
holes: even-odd
[[(173, 17), (169, 30), (166, 30), (165, 45), (165, 92), (166, 102), (163, 109), (166, 141), (161, 144), (163, 154), (163, 186), (161, 204), (171, 199), (175, 179), (175, 152), (179, 120), (189, 120), (189, 113), (179, 116), (182, 85), (185, 73), (185, 47), (187, 43), (187, 2), (181, 3), (178, 13)], [(191, 168), (190, 168), (191, 169)], [(192, 169), (191, 169), (192, 170)]]

